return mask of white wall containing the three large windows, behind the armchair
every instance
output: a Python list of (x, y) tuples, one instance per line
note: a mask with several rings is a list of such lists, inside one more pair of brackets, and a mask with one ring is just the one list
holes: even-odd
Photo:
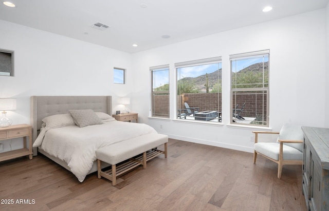
[[(216, 27), (216, 26), (214, 26)], [(218, 24), (220, 27), (220, 24)], [(270, 49), (270, 128), (285, 122), (324, 126), (325, 9), (239, 28), (133, 54), (133, 110), (140, 121), (171, 138), (253, 152), (252, 130), (229, 125), (229, 55)], [(223, 125), (187, 123), (175, 119), (175, 62), (222, 56)], [(171, 120), (148, 118), (149, 67), (170, 65)], [(162, 129), (161, 129), (162, 126)]]

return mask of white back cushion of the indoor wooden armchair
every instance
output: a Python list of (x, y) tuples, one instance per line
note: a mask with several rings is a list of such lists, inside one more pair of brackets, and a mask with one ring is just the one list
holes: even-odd
[[(280, 130), (278, 140), (304, 140), (304, 133), (300, 125), (286, 123)], [(303, 152), (302, 143), (284, 143), (284, 145), (294, 147), (300, 152)]]

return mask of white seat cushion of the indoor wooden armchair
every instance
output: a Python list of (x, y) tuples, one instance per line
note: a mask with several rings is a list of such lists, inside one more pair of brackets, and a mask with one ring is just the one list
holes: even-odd
[[(270, 157), (279, 160), (280, 143), (255, 143), (254, 150)], [(283, 145), (283, 160), (302, 160), (303, 153), (288, 145)]]

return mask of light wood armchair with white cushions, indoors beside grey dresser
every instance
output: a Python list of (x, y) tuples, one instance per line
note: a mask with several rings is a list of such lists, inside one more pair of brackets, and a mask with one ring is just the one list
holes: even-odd
[[(278, 163), (278, 178), (281, 178), (283, 165), (303, 164), (304, 135), (301, 126), (284, 124), (280, 132), (252, 131), (255, 134), (253, 163), (257, 154)], [(277, 142), (258, 142), (259, 134), (279, 134)]]

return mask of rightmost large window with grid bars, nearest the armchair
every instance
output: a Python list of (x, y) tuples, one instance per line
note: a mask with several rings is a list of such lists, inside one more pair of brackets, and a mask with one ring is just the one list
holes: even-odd
[(236, 54), (231, 60), (231, 123), (268, 126), (269, 50)]

